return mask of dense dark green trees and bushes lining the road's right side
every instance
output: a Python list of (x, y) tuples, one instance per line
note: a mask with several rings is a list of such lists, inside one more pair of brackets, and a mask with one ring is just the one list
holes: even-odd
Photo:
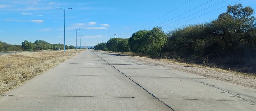
[[(140, 30), (127, 40), (111, 38), (95, 49), (137, 52), (153, 58), (184, 58), (181, 62), (247, 67), (256, 72), (256, 24), (254, 10), (242, 4), (228, 6), (216, 20), (177, 28), (164, 33), (161, 27)], [(239, 69), (238, 69), (239, 70)]]

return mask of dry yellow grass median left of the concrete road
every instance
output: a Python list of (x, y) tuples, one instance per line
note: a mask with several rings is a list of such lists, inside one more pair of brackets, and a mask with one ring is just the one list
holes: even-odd
[(0, 55), (0, 94), (51, 69), (83, 50), (28, 52)]

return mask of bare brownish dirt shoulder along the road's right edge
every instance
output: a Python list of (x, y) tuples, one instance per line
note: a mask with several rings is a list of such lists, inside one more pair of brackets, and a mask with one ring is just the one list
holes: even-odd
[(175, 63), (172, 61), (150, 59), (150, 58), (138, 57), (138, 56), (126, 56), (126, 58), (135, 59), (142, 62), (154, 64), (157, 66), (164, 66), (164, 67), (172, 68), (175, 70), (204, 76), (207, 78), (221, 80), (221, 81), (241, 85), (244, 87), (250, 87), (250, 88), (256, 89), (255, 76), (235, 74), (235, 73), (225, 73), (225, 72), (218, 71), (218, 69), (214, 69), (214, 68), (206, 68), (206, 67), (200, 67), (195, 65), (190, 66), (190, 65), (184, 65), (183, 63)]

